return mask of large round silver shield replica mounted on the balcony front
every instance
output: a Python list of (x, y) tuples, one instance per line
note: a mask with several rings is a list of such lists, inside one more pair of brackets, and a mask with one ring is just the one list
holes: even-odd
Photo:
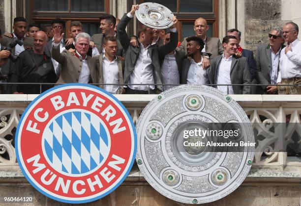
[(230, 96), (209, 86), (181, 85), (158, 95), (143, 110), (136, 130), (141, 173), (177, 202), (223, 198), (252, 165), (254, 133), (247, 115)]

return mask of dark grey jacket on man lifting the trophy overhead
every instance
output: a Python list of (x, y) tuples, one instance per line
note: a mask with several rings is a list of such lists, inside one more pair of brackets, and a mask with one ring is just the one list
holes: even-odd
[[(120, 38), (120, 43), (125, 51), (125, 69), (123, 75), (124, 83), (127, 83), (131, 72), (135, 69), (136, 61), (140, 54), (139, 48), (133, 47), (130, 44), (130, 39), (125, 31), (126, 25), (130, 22), (131, 18), (126, 16), (122, 17), (119, 24), (117, 25), (117, 34)], [(163, 59), (166, 54), (173, 51), (177, 47), (178, 32), (170, 33), (170, 42), (164, 46), (159, 47), (158, 44), (151, 45), (148, 52), (151, 56), (151, 61), (153, 65), (153, 78), (155, 84), (162, 84), (161, 81), (161, 69), (160, 69), (160, 59)], [(162, 85), (158, 85), (159, 90), (163, 90)]]

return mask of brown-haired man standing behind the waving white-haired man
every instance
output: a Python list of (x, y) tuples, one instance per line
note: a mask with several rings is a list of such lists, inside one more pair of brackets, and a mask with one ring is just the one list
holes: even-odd
[[(79, 22), (79, 21), (73, 21), (73, 22), (71, 22), (69, 33), (70, 33), (70, 35), (71, 35), (71, 37), (73, 39), (73, 42), (70, 45), (65, 46), (66, 50), (69, 50), (69, 49), (75, 50), (75, 44), (74, 44), (75, 37), (76, 37), (76, 35), (78, 33), (81, 33), (81, 32), (84, 32), (82, 23)], [(98, 52), (98, 50), (95, 47), (93, 47), (93, 48), (90, 47), (89, 51), (87, 52), (87, 55), (88, 56), (99, 55), (99, 52)]]

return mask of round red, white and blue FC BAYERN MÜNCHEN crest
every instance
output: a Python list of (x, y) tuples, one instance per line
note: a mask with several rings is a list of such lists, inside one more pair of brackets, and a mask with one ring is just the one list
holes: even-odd
[(16, 131), (16, 154), (30, 183), (65, 203), (87, 203), (128, 175), (137, 137), (125, 107), (88, 84), (66, 84), (38, 96)]

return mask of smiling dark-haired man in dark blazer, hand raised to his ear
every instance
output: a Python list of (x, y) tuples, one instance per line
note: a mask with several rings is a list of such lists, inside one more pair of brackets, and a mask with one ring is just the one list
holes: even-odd
[[(246, 57), (236, 58), (238, 40), (235, 36), (223, 38), (224, 52), (211, 59), (209, 79), (211, 84), (250, 84), (250, 72)], [(226, 94), (250, 94), (249, 85), (215, 86)]]

